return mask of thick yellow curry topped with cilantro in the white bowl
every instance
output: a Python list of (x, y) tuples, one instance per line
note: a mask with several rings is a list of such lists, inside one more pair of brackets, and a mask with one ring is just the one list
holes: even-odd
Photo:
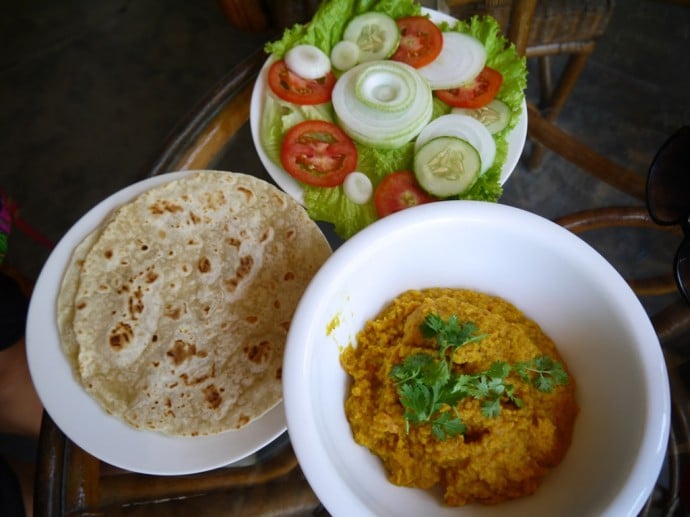
[[(448, 346), (448, 329), (464, 333), (461, 346)], [(499, 297), (405, 292), (341, 363), (353, 381), (345, 411), (355, 440), (392, 483), (440, 485), (447, 505), (532, 494), (570, 445), (574, 380), (553, 341)]]

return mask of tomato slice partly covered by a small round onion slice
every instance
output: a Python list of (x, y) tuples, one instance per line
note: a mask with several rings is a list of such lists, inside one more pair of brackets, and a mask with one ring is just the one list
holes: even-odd
[(331, 99), (335, 76), (328, 72), (320, 79), (304, 79), (291, 72), (282, 59), (268, 70), (268, 85), (278, 97), (294, 104), (321, 104)]

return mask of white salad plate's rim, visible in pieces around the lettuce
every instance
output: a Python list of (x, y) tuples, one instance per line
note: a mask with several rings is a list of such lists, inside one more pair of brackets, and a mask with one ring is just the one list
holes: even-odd
[[(434, 20), (436, 23), (440, 23), (442, 21), (457, 21), (455, 18), (447, 14), (440, 13), (438, 11), (434, 11), (431, 9), (423, 9), (423, 12), (429, 13), (431, 15), (432, 20)], [(268, 155), (266, 155), (266, 152), (264, 151), (264, 148), (261, 145), (260, 125), (261, 119), (263, 118), (264, 97), (266, 96), (266, 92), (268, 89), (268, 69), (270, 68), (271, 63), (271, 58), (268, 58), (266, 60), (266, 63), (264, 63), (264, 66), (262, 67), (261, 72), (257, 77), (256, 83), (254, 83), (254, 89), (252, 90), (252, 99), (249, 112), (249, 124), (251, 126), (252, 131), (252, 139), (254, 140), (254, 147), (256, 147), (256, 151), (259, 154), (259, 159), (261, 160), (261, 163), (266, 168), (266, 171), (268, 171), (268, 174), (271, 176), (273, 181), (275, 181), (280, 188), (282, 188), (285, 192), (287, 192), (299, 203), (304, 204), (304, 190), (300, 183), (297, 180), (295, 180), (292, 176), (290, 176), (290, 174), (287, 171), (285, 171), (285, 169), (276, 165), (276, 163), (273, 162), (273, 160), (271, 160), (268, 157)], [(520, 114), (520, 118), (518, 119), (517, 125), (513, 128), (513, 130), (508, 134), (507, 137), (508, 155), (506, 157), (506, 162), (503, 164), (503, 168), (501, 169), (501, 178), (499, 180), (501, 185), (503, 185), (508, 180), (510, 175), (515, 170), (515, 167), (517, 166), (517, 163), (520, 160), (520, 156), (522, 155), (522, 149), (525, 147), (526, 138), (527, 103), (523, 101), (522, 113)]]

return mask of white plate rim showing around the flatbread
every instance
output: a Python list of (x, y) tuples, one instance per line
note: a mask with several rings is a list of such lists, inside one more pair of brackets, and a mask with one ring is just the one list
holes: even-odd
[(31, 298), (26, 347), (38, 396), (57, 426), (89, 454), (126, 470), (158, 475), (190, 474), (248, 457), (286, 429), (283, 403), (237, 431), (175, 437), (130, 427), (107, 414), (72, 374), (60, 345), (56, 301), (72, 250), (114, 208), (152, 187), (188, 172), (156, 176), (108, 197), (87, 212), (60, 240), (38, 277)]

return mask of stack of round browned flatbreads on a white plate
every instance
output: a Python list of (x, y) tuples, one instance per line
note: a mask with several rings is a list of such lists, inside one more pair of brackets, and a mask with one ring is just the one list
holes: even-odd
[(121, 206), (75, 249), (58, 297), (84, 388), (130, 425), (239, 429), (282, 398), (290, 319), (331, 249), (267, 182), (203, 171)]

